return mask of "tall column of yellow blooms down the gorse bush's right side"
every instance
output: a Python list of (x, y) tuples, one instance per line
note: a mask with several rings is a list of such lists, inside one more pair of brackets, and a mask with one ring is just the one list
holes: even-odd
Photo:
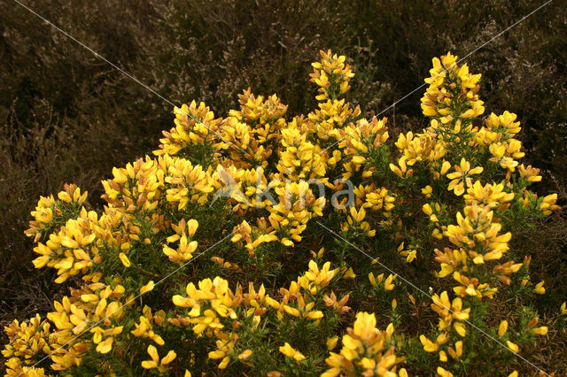
[[(422, 98), (423, 114), (432, 118), (431, 126), (423, 130), (423, 134), (400, 135), (396, 144), (402, 155), (400, 167), (391, 165), (394, 173), (408, 179), (414, 172), (410, 173), (406, 166), (424, 162), (429, 165), (431, 181), (448, 182), (442, 184), (447, 184), (448, 191), (464, 199), (464, 208), (456, 212), (456, 224), (447, 222), (446, 207), (439, 203), (423, 204), (423, 212), (432, 227), (431, 235), (450, 242), (443, 251), (435, 250), (435, 260), (441, 267), (437, 275), (450, 276), (456, 282), (453, 290), (457, 297), (453, 302), (447, 291), (440, 296), (433, 295), (431, 309), (439, 314), (436, 341), (420, 335), (423, 350), (439, 352), (439, 361), (444, 363), (447, 363), (447, 353), (455, 361), (462, 356), (463, 342), (454, 341), (451, 329), (464, 337), (466, 330), (462, 320), (474, 314), (470, 309), (462, 310), (462, 300), (467, 297), (492, 299), (501, 283), (510, 285), (510, 275), (529, 265), (530, 258), (525, 258), (523, 263), (501, 260), (509, 250), (512, 237), (510, 232), (502, 230), (501, 213), (513, 211), (513, 206), (531, 208), (540, 215), (560, 208), (555, 204), (556, 196), (538, 198), (527, 189), (541, 177), (538, 169), (517, 161), (524, 157), (524, 152), (521, 142), (514, 138), (521, 129), (516, 114), (492, 113), (482, 127), (474, 126), (473, 120), (485, 111), (484, 103), (478, 98), (479, 79), (480, 75), (470, 74), (468, 66), (459, 66), (457, 57), (451, 54), (434, 58), (431, 77), (426, 79), (430, 87)], [(416, 138), (420, 142), (414, 142)], [(450, 172), (452, 164), (454, 171)], [(428, 186), (421, 194), (427, 199), (437, 193)], [(523, 285), (525, 283), (524, 279)], [(545, 291), (538, 287), (534, 292)], [(538, 332), (544, 330), (534, 334)], [(453, 344), (441, 350), (441, 345), (447, 342)], [(508, 342), (509, 349), (517, 352), (517, 344)], [(453, 375), (442, 367), (437, 372)]]

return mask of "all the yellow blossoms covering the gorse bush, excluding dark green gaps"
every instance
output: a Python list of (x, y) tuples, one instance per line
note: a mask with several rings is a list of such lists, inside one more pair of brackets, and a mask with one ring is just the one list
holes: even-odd
[[(255, 96), (250, 89), (238, 96), (239, 109), (229, 111), (226, 118), (215, 118), (203, 103), (183, 104), (174, 110), (175, 127), (163, 133), (159, 150), (154, 151), (157, 158), (140, 158), (122, 168), (113, 168), (113, 179), (103, 181), (103, 198), (108, 205), (102, 214), (88, 212), (82, 206), (87, 194), (73, 185), (66, 185), (57, 195), (41, 197), (26, 232), (35, 237), (34, 252), (38, 256), (33, 263), (36, 268), (56, 269), (58, 283), (77, 275), (83, 283), (72, 289), (70, 296), (54, 303), (49, 320), (36, 317), (28, 323), (14, 321), (6, 327), (9, 342), (2, 354), (7, 359), (7, 373), (65, 374), (87, 361), (82, 360), (85, 355), (98, 357), (99, 365), (110, 368), (112, 365), (106, 365), (105, 359), (112, 351), (141, 362), (145, 370), (150, 370), (148, 373), (184, 372), (190, 377), (185, 367), (194, 366), (204, 354), (214, 360), (219, 370), (240, 361), (253, 373), (258, 365), (252, 365), (252, 361), (257, 355), (252, 353), (252, 347), (248, 349), (249, 335), (260, 332), (258, 335), (265, 335), (266, 340), (273, 340), (274, 334), (288, 327), (286, 322), (297, 322), (328, 332), (313, 337), (325, 342), (319, 348), (327, 348), (325, 363), (329, 366), (322, 374), (325, 377), (408, 376), (399, 365), (405, 358), (395, 354), (402, 344), (400, 337), (393, 336), (392, 324), (379, 330), (374, 313), (358, 312), (352, 327), (347, 327), (342, 336), (334, 336), (333, 326), (327, 323), (330, 320), (330, 325), (344, 324), (341, 314), (351, 310), (346, 306), (346, 292), (356, 288), (357, 281), (346, 281), (356, 278), (354, 267), (342, 264), (331, 269), (330, 262), (318, 262), (326, 255), (323, 244), (330, 244), (314, 229), (314, 219), (323, 214), (331, 223), (344, 219), (330, 225), (336, 225), (351, 238), (378, 235), (389, 240), (389, 245), (399, 245), (397, 252), (408, 263), (416, 259), (416, 250), (430, 248), (430, 238), (447, 240), (439, 243), (442, 250), (434, 250), (439, 268), (430, 281), (431, 310), (438, 317), (436, 338), (430, 340), (418, 334), (423, 350), (432, 354), (434, 364), (429, 365), (431, 370), (423, 365), (409, 366), (415, 368), (413, 373), (436, 371), (441, 376), (452, 376), (450, 369), (462, 371), (459, 365), (467, 362), (465, 358), (483, 353), (470, 344), (470, 350), (463, 354), (463, 343), (467, 342), (465, 321), (473, 314), (483, 314), (472, 313), (463, 303), (492, 299), (498, 289), (516, 281), (512, 280), (512, 273), (527, 270), (530, 263), (530, 258), (524, 258), (524, 263), (506, 258), (511, 239), (511, 233), (505, 229), (508, 212), (536, 210), (548, 215), (560, 206), (556, 194), (540, 197), (526, 188), (529, 183), (540, 181), (541, 176), (539, 169), (519, 165), (524, 152), (522, 142), (514, 138), (520, 131), (516, 114), (491, 114), (481, 125), (479, 116), (484, 112), (484, 103), (478, 97), (480, 75), (471, 74), (468, 65), (457, 65), (457, 57), (451, 53), (434, 58), (432, 65), (431, 77), (426, 79), (429, 87), (421, 102), (423, 114), (431, 119), (427, 119), (428, 125), (421, 133), (405, 132), (393, 141), (397, 150), (386, 144), (386, 119), (363, 119), (360, 107), (344, 98), (353, 77), (346, 57), (321, 51), (321, 60), (313, 64), (311, 74), (311, 81), (318, 87), (318, 104), (307, 116), (288, 116), (287, 106), (277, 96)], [(475, 167), (487, 159), (491, 163)], [(490, 172), (485, 173), (484, 169)], [(351, 187), (352, 181), (358, 186)], [(440, 182), (447, 183), (449, 192), (438, 192)], [(335, 194), (331, 204), (341, 205), (326, 205), (329, 196), (325, 188)], [(462, 200), (455, 201), (451, 191), (454, 196), (462, 196)], [(216, 202), (219, 198), (221, 201)], [(216, 205), (208, 206), (211, 202)], [(423, 221), (423, 214), (416, 213), (420, 205), (429, 221)], [(394, 208), (398, 211), (392, 211)], [(213, 210), (218, 212), (214, 219), (205, 221), (206, 216), (201, 215)], [(200, 227), (197, 219), (191, 219), (197, 214)], [(447, 219), (454, 216), (456, 222), (449, 225)], [(176, 307), (169, 308), (167, 313), (170, 304), (144, 300), (157, 306), (138, 308), (142, 314), (133, 323), (124, 312), (126, 309), (120, 309), (136, 296), (136, 291), (125, 289), (131, 288), (131, 276), (120, 275), (125, 270), (121, 265), (128, 268), (150, 263), (148, 252), (155, 249), (163, 254), (161, 257), (165, 255), (170, 262), (183, 265), (194, 260), (199, 247), (203, 251), (214, 242), (212, 229), (206, 227), (212, 223), (221, 226), (233, 218), (241, 218), (233, 224), (234, 232), (229, 236), (237, 250), (221, 250), (211, 259), (215, 262), (214, 271), (223, 271), (219, 275), (235, 278), (234, 291), (229, 289), (229, 281), (214, 274), (198, 282), (186, 281), (184, 294), (170, 295)], [(224, 229), (224, 235), (229, 231)], [(383, 246), (387, 248), (388, 244)], [(300, 254), (317, 250), (315, 247), (321, 249), (311, 251), (315, 260), (309, 261), (307, 272), (297, 280), (287, 279), (291, 281), (289, 286), (274, 285), (275, 281), (290, 277), (276, 276), (277, 273), (293, 274), (297, 270), (298, 265), (282, 265), (301, 259), (294, 259), (291, 248)], [(109, 260), (106, 250), (117, 250), (118, 254)], [(380, 250), (374, 251), (380, 255)], [(274, 258), (269, 258), (270, 254)], [(136, 264), (128, 257), (135, 258)], [(372, 264), (377, 263), (377, 258)], [(241, 264), (245, 259), (249, 263)], [(170, 266), (154, 267), (163, 273)], [(195, 267), (199, 269), (199, 265)], [(245, 267), (250, 271), (242, 274)], [(246, 290), (242, 278), (259, 272), (267, 277), (265, 285), (254, 289), (250, 282)], [(381, 291), (374, 292), (375, 296), (388, 296), (382, 290), (396, 289), (396, 276), (369, 273), (371, 286)], [(171, 288), (179, 286), (179, 279), (183, 277), (177, 276), (178, 281), (172, 281)], [(531, 285), (527, 275), (519, 279), (536, 294), (546, 291), (544, 281)], [(154, 281), (146, 282), (136, 288), (141, 295), (155, 288)], [(341, 282), (348, 284), (341, 288)], [(337, 297), (333, 289), (345, 296)], [(434, 289), (439, 289), (439, 295), (433, 294)], [(268, 295), (277, 295), (277, 299)], [(397, 298), (387, 300), (392, 303), (394, 314), (398, 304), (400, 309), (404, 304)], [(409, 300), (415, 310), (424, 304), (416, 303), (413, 296)], [(353, 307), (361, 307), (360, 304), (353, 303)], [(159, 310), (161, 306), (163, 309)], [(377, 312), (376, 305), (370, 306)], [(567, 315), (567, 304), (563, 303), (560, 310), (561, 315)], [(424, 317), (420, 320), (428, 321)], [(548, 327), (536, 327), (538, 320), (529, 322), (528, 333), (548, 335)], [(130, 333), (118, 337), (122, 331), (119, 325), (129, 328)], [(423, 327), (423, 323), (418, 325)], [(510, 341), (514, 331), (508, 333), (509, 326), (512, 325), (504, 319), (491, 332), (497, 333), (509, 350), (518, 352), (520, 342)], [(160, 358), (157, 346), (165, 347), (166, 342), (156, 332), (171, 338), (169, 335), (183, 335), (181, 330), (188, 327), (197, 343), (214, 342), (216, 347), (190, 350), (187, 358), (179, 360), (186, 365), (175, 365), (175, 370), (168, 371), (176, 354), (162, 348), (167, 355)], [(75, 335), (84, 331), (92, 339), (75, 342)], [(171, 344), (179, 343), (168, 340)], [(50, 371), (28, 369), (68, 342), (70, 347), (51, 355)], [(91, 343), (96, 352), (89, 356)], [(136, 349), (132, 347), (136, 343), (146, 343), (148, 357), (128, 354)], [(303, 349), (303, 345), (298, 345)], [(321, 355), (310, 360), (310, 355), (303, 355), (289, 342), (278, 347), (272, 356), (288, 364), (299, 363), (295, 368), (298, 370), (310, 361), (322, 360)], [(214, 364), (208, 360), (206, 363)], [(267, 369), (268, 376), (282, 375), (272, 370), (276, 369), (273, 366)], [(516, 376), (516, 371), (510, 374)]]

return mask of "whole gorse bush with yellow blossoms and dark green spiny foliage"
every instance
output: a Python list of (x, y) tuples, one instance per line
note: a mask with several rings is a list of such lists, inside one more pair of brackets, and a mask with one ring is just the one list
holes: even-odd
[[(530, 257), (509, 242), (560, 207), (529, 187), (517, 116), (485, 116), (480, 74), (433, 59), (428, 127), (391, 142), (321, 52), (317, 108), (245, 90), (216, 118), (175, 108), (153, 155), (113, 168), (103, 212), (41, 197), (36, 268), (82, 283), (5, 327), (7, 373), (534, 373), (548, 334)], [(564, 327), (565, 304), (555, 308)]]

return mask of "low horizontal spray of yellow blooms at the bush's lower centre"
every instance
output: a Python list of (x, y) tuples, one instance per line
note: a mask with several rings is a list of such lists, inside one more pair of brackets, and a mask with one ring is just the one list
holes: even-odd
[[(263, 284), (256, 291), (250, 282), (248, 292), (245, 293), (242, 287), (238, 287), (236, 291), (229, 289), (229, 281), (218, 276), (213, 281), (199, 281), (198, 287), (189, 283), (185, 289), (186, 296), (173, 296), (175, 306), (187, 308), (188, 312), (172, 323), (190, 326), (197, 335), (214, 336), (217, 350), (209, 352), (208, 358), (220, 359), (218, 367), (225, 369), (231, 359), (244, 361), (252, 355), (252, 350), (235, 354), (240, 339), (238, 330), (250, 326), (249, 331), (258, 331), (262, 319), (268, 320), (265, 318), (270, 313), (276, 313), (276, 319), (280, 322), (306, 319), (316, 327), (325, 316), (316, 304), (321, 309), (327, 307), (338, 313), (348, 312), (350, 308), (346, 306), (346, 302), (349, 296), (338, 299), (331, 291), (329, 296), (322, 296), (322, 300), (315, 300), (337, 273), (338, 269), (330, 270), (330, 262), (319, 268), (311, 260), (306, 273), (297, 281), (291, 281), (288, 289), (279, 289), (282, 296), (279, 300), (269, 296)], [(296, 362), (305, 358), (287, 342), (279, 350)]]

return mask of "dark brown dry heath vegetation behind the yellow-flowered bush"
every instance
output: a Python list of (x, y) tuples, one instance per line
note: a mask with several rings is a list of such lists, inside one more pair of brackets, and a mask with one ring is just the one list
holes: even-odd
[[(290, 113), (314, 106), (307, 81), (320, 49), (351, 57), (352, 93), (378, 113), (423, 83), (431, 58), (466, 56), (541, 2), (194, 0), (88, 2), (29, 0), (27, 6), (123, 67), (175, 104), (205, 101), (226, 115), (237, 94), (277, 93)], [(516, 112), (529, 163), (542, 168), (540, 194), (565, 204), (567, 172), (567, 9), (552, 2), (473, 53), (485, 106)], [(172, 106), (16, 3), (0, 4), (0, 325), (48, 312), (66, 292), (50, 271), (35, 271), (23, 235), (40, 195), (66, 182), (102, 204), (99, 181), (113, 165), (155, 149), (172, 125)], [(384, 112), (396, 131), (423, 127), (424, 88)], [(360, 98), (359, 98), (360, 99)], [(564, 214), (516, 235), (538, 255), (546, 281), (541, 309), (565, 298)], [(531, 234), (532, 235), (532, 234)], [(545, 240), (545, 242), (542, 242)], [(560, 301), (561, 300), (561, 301)], [(4, 334), (0, 335), (4, 336)], [(565, 342), (564, 336), (555, 337)], [(5, 339), (2, 338), (2, 342)], [(560, 357), (555, 355), (555, 357)], [(565, 356), (563, 355), (563, 362)]]

